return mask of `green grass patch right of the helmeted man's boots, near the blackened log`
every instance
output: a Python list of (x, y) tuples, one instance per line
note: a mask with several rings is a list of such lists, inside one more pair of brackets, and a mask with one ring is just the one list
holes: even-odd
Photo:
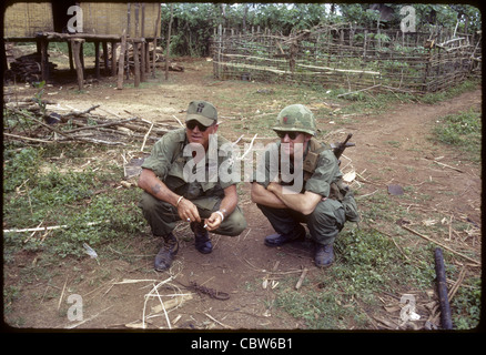
[[(432, 261), (427, 248), (398, 250), (391, 237), (375, 230), (348, 230), (335, 242), (338, 262), (303, 288), (293, 288), (295, 280), (285, 283), (274, 305), (304, 321), (311, 329), (366, 328), (364, 307), (381, 304), (379, 294), (404, 293), (409, 285), (425, 290), (435, 277), (434, 263), (412, 264), (405, 257)], [(305, 292), (303, 291), (305, 288)]]

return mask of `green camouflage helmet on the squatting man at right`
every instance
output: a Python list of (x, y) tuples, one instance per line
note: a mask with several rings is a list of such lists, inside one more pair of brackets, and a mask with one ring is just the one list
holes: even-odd
[(305, 132), (315, 135), (314, 114), (303, 104), (291, 104), (279, 113), (276, 125), (272, 130)]

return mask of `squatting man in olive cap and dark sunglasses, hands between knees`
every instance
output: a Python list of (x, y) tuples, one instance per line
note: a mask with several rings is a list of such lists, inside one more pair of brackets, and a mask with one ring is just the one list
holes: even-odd
[[(237, 205), (236, 182), (210, 179), (214, 164), (207, 154), (211, 140), (216, 149), (227, 143), (216, 135), (216, 109), (209, 102), (193, 101), (185, 124), (185, 129), (168, 132), (154, 144), (139, 178), (139, 186), (144, 190), (139, 206), (153, 235), (162, 242), (154, 261), (156, 271), (169, 268), (178, 253), (179, 243), (172, 233), (178, 221), (190, 223), (195, 248), (204, 254), (213, 247), (209, 232), (235, 236), (246, 227)], [(217, 166), (231, 158), (219, 155)], [(195, 171), (198, 174), (191, 175)]]

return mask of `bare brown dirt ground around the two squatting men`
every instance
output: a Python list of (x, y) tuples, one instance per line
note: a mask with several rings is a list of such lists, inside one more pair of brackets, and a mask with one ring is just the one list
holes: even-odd
[[(149, 120), (174, 122), (173, 115), (183, 119), (182, 111), (191, 100), (207, 100), (217, 106), (219, 98), (237, 94), (242, 87), (241, 82), (215, 81), (211, 74), (212, 63), (206, 60), (185, 60), (183, 64), (185, 71), (171, 72), (169, 84), (164, 84), (161, 79), (151, 79), (143, 83), (141, 90), (132, 85), (115, 90), (115, 80), (104, 78), (100, 82), (88, 84), (83, 94), (77, 94), (75, 82), (71, 81), (48, 87), (45, 98), (54, 100), (61, 106), (82, 110), (99, 103), (108, 114), (123, 118), (135, 114)], [(254, 91), (272, 88), (264, 83), (244, 85), (246, 90)], [(19, 97), (32, 92), (30, 88), (21, 89), (17, 91)], [(12, 88), (4, 88), (6, 92), (8, 90)], [(379, 115), (352, 115), (344, 129), (335, 132), (334, 138), (341, 140), (344, 133), (354, 134), (356, 148), (347, 150), (345, 155), (352, 161), (355, 171), (361, 173), (360, 194), (386, 191), (389, 184), (412, 186), (412, 193), (417, 194), (417, 204), (411, 205), (411, 209), (418, 209), (424, 214), (426, 211), (454, 212), (480, 225), (479, 168), (462, 161), (457, 152), (438, 146), (427, 139), (437, 118), (469, 108), (480, 108), (480, 104), (482, 91), (477, 89), (439, 104), (401, 103)], [(231, 128), (234, 122), (232, 118), (237, 114), (237, 108), (220, 111), (224, 122), (220, 133), (230, 140), (235, 140), (241, 134)], [(320, 118), (318, 126), (328, 131), (332, 126), (331, 120), (332, 118)], [(249, 132), (246, 138), (252, 135)], [(436, 164), (434, 160), (456, 170)], [(427, 183), (431, 181), (438, 183)], [(22, 327), (26, 328), (136, 329), (143, 326), (143, 315), (151, 314), (152, 307), (160, 306), (156, 295), (150, 297), (146, 304), (144, 296), (151, 293), (153, 285), (166, 281), (166, 287), (160, 288), (165, 295), (164, 301), (171, 293), (191, 294), (192, 297), (170, 310), (168, 317), (173, 328), (304, 328), (300, 321), (267, 306), (274, 298), (272, 286), (280, 277), (291, 276), (296, 282), (304, 267), (308, 268), (308, 277), (325, 271), (314, 266), (312, 250), (307, 244), (279, 248), (264, 246), (264, 236), (273, 233), (273, 230), (260, 210), (251, 203), (249, 184), (245, 183), (242, 189), (244, 193), (241, 205), (249, 226), (236, 237), (212, 235), (214, 250), (211, 254), (203, 255), (195, 251), (189, 229), (182, 225), (176, 232), (181, 244), (173, 267), (170, 272), (155, 273), (151, 268), (158, 250), (156, 241), (149, 233), (134, 236), (133, 244), (146, 254), (133, 255), (136, 264), (123, 260), (101, 260), (101, 263), (97, 263), (87, 257), (52, 265), (54, 268), (59, 267), (54, 278), (49, 283), (33, 282), (24, 290), (31, 295), (43, 294), (41, 301), (32, 302), (33, 297), (29, 298), (27, 295), (21, 297), (11, 305), (9, 318), (22, 318)], [(437, 193), (444, 191), (450, 193)], [(424, 201), (418, 199), (419, 195), (428, 195), (429, 199)], [(32, 255), (18, 255), (14, 265), (6, 267), (3, 272), (4, 285), (16, 284), (21, 277), (22, 268), (30, 263)], [(103, 273), (109, 273), (109, 276), (102, 278), (100, 275)], [(264, 288), (262, 283), (269, 277), (269, 284)], [(123, 280), (125, 282), (121, 283)], [(229, 293), (230, 300), (220, 301), (205, 294), (199, 295), (180, 284), (186, 285), (190, 281)], [(47, 296), (51, 293), (58, 296)], [(68, 297), (72, 294), (82, 296), (81, 322), (71, 322), (67, 317), (73, 305), (68, 303)], [(168, 328), (168, 320), (161, 312), (146, 320), (145, 326), (149, 329)]]

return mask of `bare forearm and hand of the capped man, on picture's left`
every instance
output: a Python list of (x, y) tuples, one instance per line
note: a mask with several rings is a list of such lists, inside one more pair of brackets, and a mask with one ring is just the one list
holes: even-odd
[(182, 221), (190, 219), (191, 221), (201, 222), (195, 204), (186, 199), (180, 200), (181, 196), (172, 192), (150, 169), (142, 169), (139, 178), (139, 187), (155, 199), (168, 202), (176, 207)]

